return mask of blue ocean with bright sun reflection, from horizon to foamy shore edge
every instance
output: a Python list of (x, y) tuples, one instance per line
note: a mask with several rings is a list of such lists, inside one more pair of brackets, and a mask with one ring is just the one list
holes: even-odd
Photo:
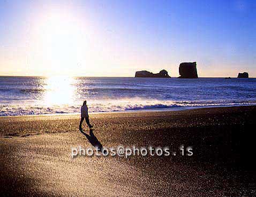
[(0, 116), (256, 105), (256, 78), (0, 77)]

